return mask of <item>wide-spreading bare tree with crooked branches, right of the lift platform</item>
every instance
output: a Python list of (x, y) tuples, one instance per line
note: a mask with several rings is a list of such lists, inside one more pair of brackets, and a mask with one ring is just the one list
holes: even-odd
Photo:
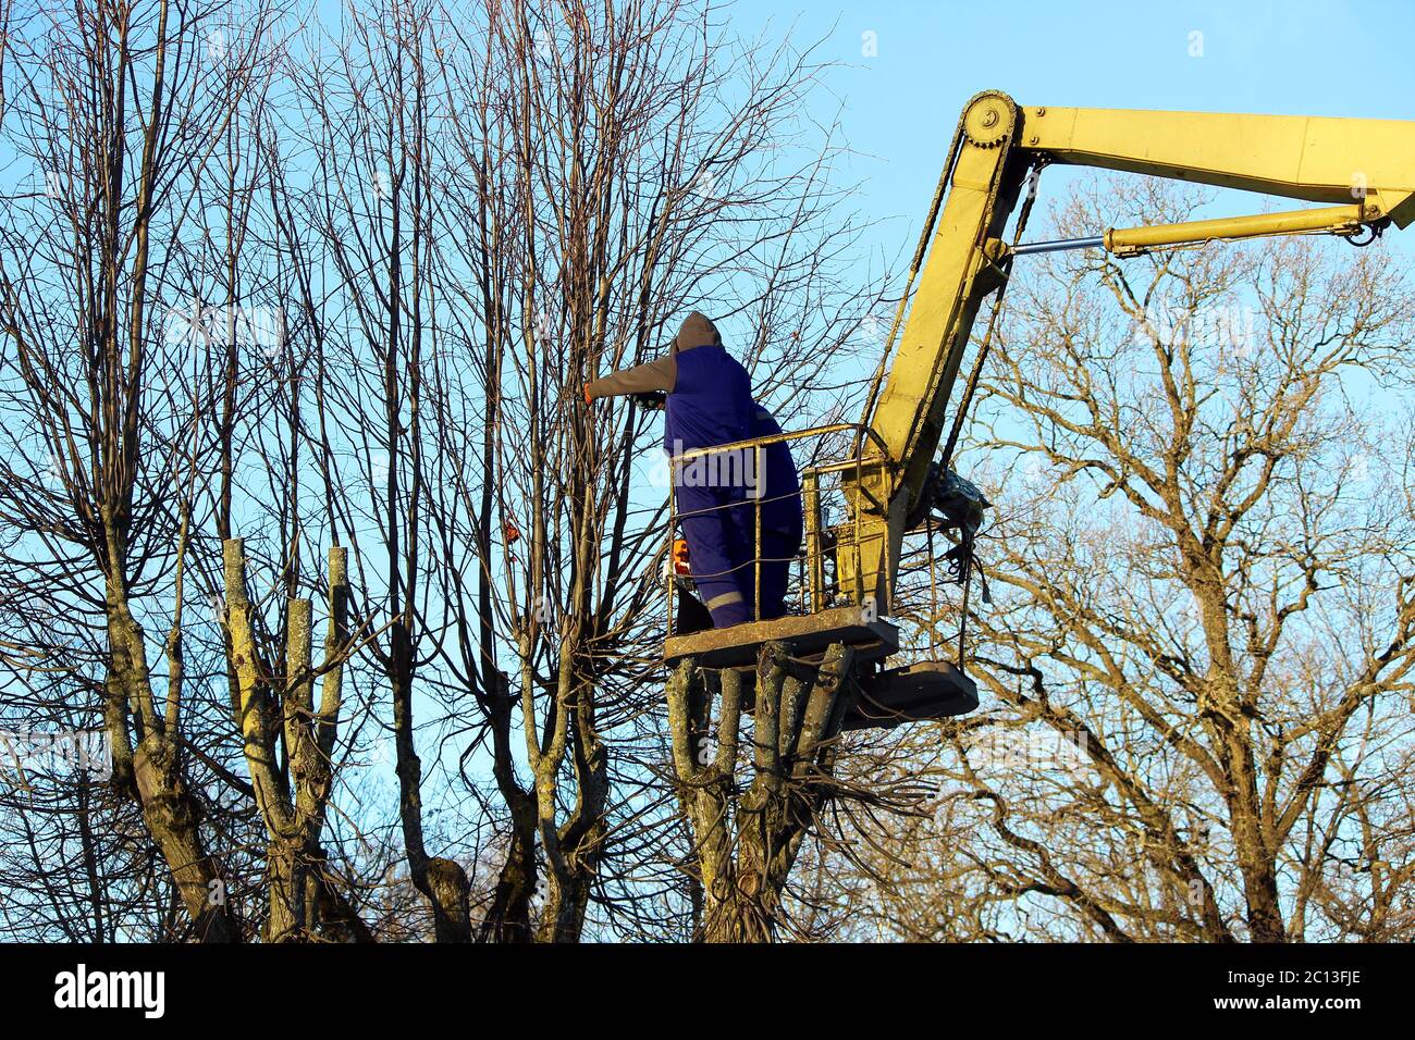
[[(1058, 233), (1182, 221), (1152, 181)], [(1019, 270), (971, 454), (986, 710), (876, 920), (910, 938), (1409, 935), (1415, 296), (1289, 238)], [(986, 454), (982, 454), (986, 453)], [(988, 707), (990, 702), (990, 707)], [(928, 740), (934, 734), (928, 734)], [(923, 743), (923, 741), (921, 741)]]

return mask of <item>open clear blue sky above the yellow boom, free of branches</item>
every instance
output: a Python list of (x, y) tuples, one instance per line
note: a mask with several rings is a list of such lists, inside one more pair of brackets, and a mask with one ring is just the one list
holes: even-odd
[[(811, 115), (829, 120), (842, 106), (860, 211), (906, 218), (880, 226), (890, 253), (913, 248), (958, 113), (982, 89), (1022, 105), (1415, 119), (1412, 3), (737, 0), (730, 10), (746, 40), (791, 31), (841, 62)], [(865, 33), (876, 57), (862, 54)], [(1050, 171), (1043, 201), (1061, 184)]]

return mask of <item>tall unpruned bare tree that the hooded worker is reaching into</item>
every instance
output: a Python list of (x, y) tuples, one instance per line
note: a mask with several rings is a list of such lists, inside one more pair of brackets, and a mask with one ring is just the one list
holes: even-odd
[[(509, 824), (485, 937), (526, 937), (536, 908), (541, 938), (577, 937), (596, 890), (631, 928), (659, 927), (645, 887), (678, 890), (678, 913), (692, 901), (691, 850), (655, 849), (676, 807), (647, 715), (666, 487), (635, 483), (654, 422), (633, 405), (586, 413), (582, 383), (654, 357), (700, 307), (737, 333), (761, 393), (804, 410), (869, 306), (841, 290), (836, 149), (807, 151), (785, 126), (815, 67), (715, 23), (679, 3), (501, 4), (444, 48), (446, 226), (471, 263), (449, 286), (468, 357), (443, 351), (439, 378), (485, 412), (437, 395), (434, 511), (437, 556), (477, 562), (447, 573), (444, 654), (490, 726)], [(740, 105), (720, 110), (723, 95)]]

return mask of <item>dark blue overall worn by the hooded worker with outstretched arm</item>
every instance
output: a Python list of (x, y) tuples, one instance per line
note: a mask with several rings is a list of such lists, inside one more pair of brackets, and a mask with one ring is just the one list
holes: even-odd
[[(747, 369), (716, 344), (686, 349), (679, 344), (676, 362), (678, 378), (664, 417), (669, 457), (746, 440), (756, 410)], [(751, 587), (751, 538), (743, 536), (733, 508), (746, 495), (740, 464), (732, 457), (674, 464), (689, 573), (716, 628), (751, 620), (751, 600), (743, 593)]]

